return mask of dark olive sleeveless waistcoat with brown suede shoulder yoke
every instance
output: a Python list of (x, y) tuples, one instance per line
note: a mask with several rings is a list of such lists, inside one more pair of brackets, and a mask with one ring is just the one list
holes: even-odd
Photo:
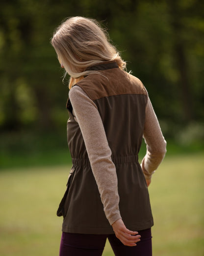
[[(150, 228), (153, 217), (149, 193), (138, 162), (145, 123), (146, 91), (139, 79), (122, 71), (115, 62), (92, 66), (89, 70), (97, 70), (101, 74), (90, 74), (77, 86), (94, 101), (102, 118), (111, 158), (116, 166), (122, 219), (130, 230)], [(67, 139), (73, 166), (67, 191), (57, 212), (64, 218), (62, 231), (114, 233), (105, 217), (82, 133), (69, 99), (67, 109)]]

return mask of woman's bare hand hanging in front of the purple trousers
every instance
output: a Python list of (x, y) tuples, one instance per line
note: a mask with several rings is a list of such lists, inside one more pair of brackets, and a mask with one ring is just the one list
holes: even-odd
[(140, 235), (137, 231), (131, 231), (126, 228), (122, 219), (117, 220), (112, 224), (116, 237), (126, 246), (136, 246), (140, 241)]

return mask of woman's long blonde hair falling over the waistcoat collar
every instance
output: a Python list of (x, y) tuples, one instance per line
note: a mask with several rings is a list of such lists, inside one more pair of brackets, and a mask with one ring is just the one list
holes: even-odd
[(99, 73), (87, 70), (95, 64), (115, 61), (119, 68), (126, 69), (126, 62), (110, 43), (108, 34), (94, 19), (84, 17), (66, 19), (55, 30), (51, 45), (66, 70), (65, 76), (67, 73), (70, 75), (70, 89), (85, 75)]

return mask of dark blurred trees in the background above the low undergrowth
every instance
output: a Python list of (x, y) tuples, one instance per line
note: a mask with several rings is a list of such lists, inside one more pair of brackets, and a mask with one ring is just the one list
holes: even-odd
[[(3, 0), (1, 130), (62, 130), (68, 89), (50, 38), (68, 16), (102, 21), (139, 77), (167, 135), (204, 118), (204, 2), (199, 0)], [(170, 131), (170, 132), (169, 132)]]

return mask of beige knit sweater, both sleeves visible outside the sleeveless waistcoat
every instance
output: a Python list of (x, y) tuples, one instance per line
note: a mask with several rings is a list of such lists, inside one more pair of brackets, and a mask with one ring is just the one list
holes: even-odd
[[(110, 224), (113, 224), (121, 219), (117, 175), (99, 111), (96, 104), (78, 86), (70, 90), (69, 98), (73, 106), (73, 115), (83, 135), (106, 218)], [(149, 97), (146, 104), (143, 137), (147, 144), (147, 153), (141, 167), (145, 178), (151, 179), (153, 172), (165, 156), (166, 141)]]

